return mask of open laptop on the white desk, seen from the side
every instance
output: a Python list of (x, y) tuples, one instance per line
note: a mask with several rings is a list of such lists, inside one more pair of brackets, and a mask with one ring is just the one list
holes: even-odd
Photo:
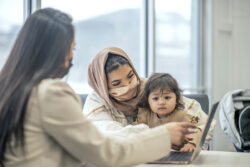
[(150, 164), (190, 164), (192, 161), (198, 157), (200, 154), (200, 151), (202, 149), (202, 146), (206, 140), (207, 133), (209, 131), (210, 125), (213, 121), (214, 114), (216, 111), (216, 108), (219, 103), (215, 103), (209, 113), (205, 128), (203, 130), (202, 136), (200, 138), (198, 147), (194, 150), (194, 152), (180, 152), (180, 151), (171, 151), (169, 155), (162, 157), (161, 159), (158, 159), (153, 162), (148, 162)]

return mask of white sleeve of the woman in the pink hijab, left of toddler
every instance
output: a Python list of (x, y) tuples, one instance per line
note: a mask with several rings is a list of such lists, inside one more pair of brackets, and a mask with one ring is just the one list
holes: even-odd
[(145, 124), (129, 125), (122, 112), (112, 111), (103, 99), (96, 96), (87, 97), (83, 114), (105, 135), (127, 137), (149, 129)]

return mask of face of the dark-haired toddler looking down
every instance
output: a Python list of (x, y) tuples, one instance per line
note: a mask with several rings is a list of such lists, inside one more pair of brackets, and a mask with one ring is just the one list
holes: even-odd
[(151, 110), (159, 117), (164, 117), (174, 111), (176, 95), (169, 90), (156, 89), (150, 92), (148, 102)]

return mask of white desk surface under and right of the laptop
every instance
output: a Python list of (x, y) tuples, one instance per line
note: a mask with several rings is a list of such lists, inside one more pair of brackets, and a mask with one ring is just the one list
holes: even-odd
[(189, 165), (172, 165), (172, 164), (141, 164), (134, 167), (169, 167), (169, 166), (202, 166), (202, 167), (249, 167), (250, 153), (222, 152), (222, 151), (201, 151), (197, 159)]

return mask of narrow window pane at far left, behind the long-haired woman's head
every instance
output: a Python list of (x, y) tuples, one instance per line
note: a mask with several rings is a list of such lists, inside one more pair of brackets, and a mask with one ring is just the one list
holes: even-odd
[(6, 62), (23, 23), (23, 1), (0, 1), (0, 70)]

